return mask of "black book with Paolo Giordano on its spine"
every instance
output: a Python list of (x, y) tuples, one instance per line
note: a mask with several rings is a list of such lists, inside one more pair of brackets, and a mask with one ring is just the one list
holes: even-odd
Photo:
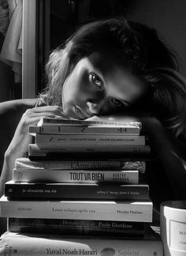
[(144, 235), (143, 222), (7, 218), (9, 232), (56, 235)]

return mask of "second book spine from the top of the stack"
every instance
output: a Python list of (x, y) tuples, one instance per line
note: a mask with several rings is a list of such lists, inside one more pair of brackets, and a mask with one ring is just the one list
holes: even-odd
[(29, 133), (35, 134), (125, 134), (139, 135), (139, 126), (29, 126)]

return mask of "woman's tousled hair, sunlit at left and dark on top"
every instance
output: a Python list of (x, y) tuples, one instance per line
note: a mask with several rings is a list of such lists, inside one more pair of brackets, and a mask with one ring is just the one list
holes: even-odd
[(184, 130), (186, 82), (179, 73), (176, 55), (154, 28), (121, 17), (85, 24), (50, 54), (47, 88), (41, 95), (47, 104), (62, 104), (65, 79), (81, 58), (95, 51), (111, 55), (149, 85), (146, 101), (139, 101), (139, 105), (151, 109), (174, 134)]

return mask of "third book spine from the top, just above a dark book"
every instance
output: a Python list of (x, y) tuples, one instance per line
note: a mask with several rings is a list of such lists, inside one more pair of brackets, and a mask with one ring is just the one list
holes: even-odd
[(50, 145), (145, 145), (145, 136), (100, 134), (36, 134), (35, 144)]

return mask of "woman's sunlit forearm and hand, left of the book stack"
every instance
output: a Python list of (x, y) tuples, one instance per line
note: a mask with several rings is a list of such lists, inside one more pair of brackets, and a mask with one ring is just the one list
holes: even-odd
[(4, 184), (12, 179), (15, 160), (19, 157), (23, 157), (24, 153), (28, 152), (28, 145), (32, 142), (32, 136), (28, 134), (28, 127), (35, 125), (44, 117), (61, 117), (67, 119), (67, 116), (62, 112), (61, 107), (58, 106), (34, 107), (25, 111), (5, 153), (2, 175), (0, 178), (0, 196), (2, 196), (4, 192)]

